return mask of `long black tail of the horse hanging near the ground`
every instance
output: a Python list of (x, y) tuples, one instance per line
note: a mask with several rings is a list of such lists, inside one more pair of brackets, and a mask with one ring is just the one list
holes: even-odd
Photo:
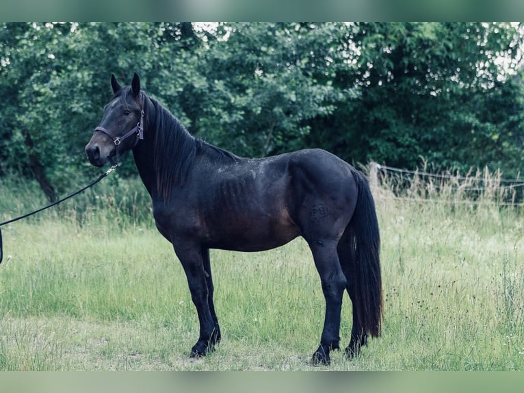
[(348, 225), (355, 296), (353, 312), (362, 332), (377, 337), (382, 320), (380, 231), (367, 179), (357, 170), (352, 173), (358, 189), (355, 211)]

